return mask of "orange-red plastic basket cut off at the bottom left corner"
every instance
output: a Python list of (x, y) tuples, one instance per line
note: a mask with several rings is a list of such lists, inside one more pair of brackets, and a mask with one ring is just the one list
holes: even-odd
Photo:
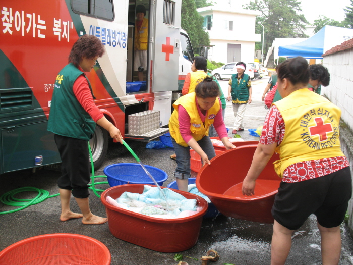
[(0, 252), (1, 265), (109, 265), (108, 248), (78, 234), (47, 234), (14, 243)]

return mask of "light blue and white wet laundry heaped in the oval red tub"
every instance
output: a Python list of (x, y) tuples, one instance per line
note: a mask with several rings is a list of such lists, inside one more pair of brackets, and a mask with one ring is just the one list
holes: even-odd
[[(162, 189), (162, 192), (167, 197), (169, 212), (162, 214), (160, 218), (179, 218), (178, 216), (182, 211), (194, 211), (195, 214), (197, 213), (197, 202), (195, 199), (187, 199), (170, 189)], [(152, 217), (156, 217), (154, 215), (161, 215), (162, 212), (160, 210), (167, 208), (165, 197), (160, 193), (159, 189), (148, 185), (144, 186), (142, 194), (124, 192), (116, 199), (116, 202), (122, 208), (141, 214), (145, 213)], [(114, 203), (111, 204), (117, 206)], [(155, 207), (156, 210), (150, 206)]]

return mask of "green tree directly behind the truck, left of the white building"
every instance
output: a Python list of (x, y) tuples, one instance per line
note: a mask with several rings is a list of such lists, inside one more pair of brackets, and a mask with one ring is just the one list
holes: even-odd
[(209, 46), (208, 32), (203, 30), (203, 18), (196, 11), (195, 0), (182, 1), (182, 28), (188, 32), (194, 49), (200, 46)]

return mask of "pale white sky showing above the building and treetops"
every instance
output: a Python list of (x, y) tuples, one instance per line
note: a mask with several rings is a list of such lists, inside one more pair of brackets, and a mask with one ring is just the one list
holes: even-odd
[[(244, 5), (249, 3), (250, 0), (230, 0), (232, 6)], [(227, 4), (229, 0), (213, 0), (218, 4)], [(314, 23), (315, 19), (318, 19), (320, 15), (323, 15), (329, 19), (342, 21), (345, 18), (343, 8), (350, 6), (350, 0), (302, 0), (301, 8), (302, 13), (310, 24)]]

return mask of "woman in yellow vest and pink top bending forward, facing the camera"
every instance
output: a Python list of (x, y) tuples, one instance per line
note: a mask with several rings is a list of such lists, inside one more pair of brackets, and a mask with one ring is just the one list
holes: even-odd
[(212, 77), (206, 77), (199, 83), (195, 92), (180, 97), (173, 104), (174, 111), (169, 120), (171, 142), (177, 154), (177, 169), (174, 176), (179, 190), (188, 190), (190, 178), (190, 147), (200, 156), (202, 165), (211, 164), (216, 156), (212, 142), (208, 137), (211, 124), (222, 140), (226, 149), (236, 148), (228, 140), (223, 122), (219, 88)]

